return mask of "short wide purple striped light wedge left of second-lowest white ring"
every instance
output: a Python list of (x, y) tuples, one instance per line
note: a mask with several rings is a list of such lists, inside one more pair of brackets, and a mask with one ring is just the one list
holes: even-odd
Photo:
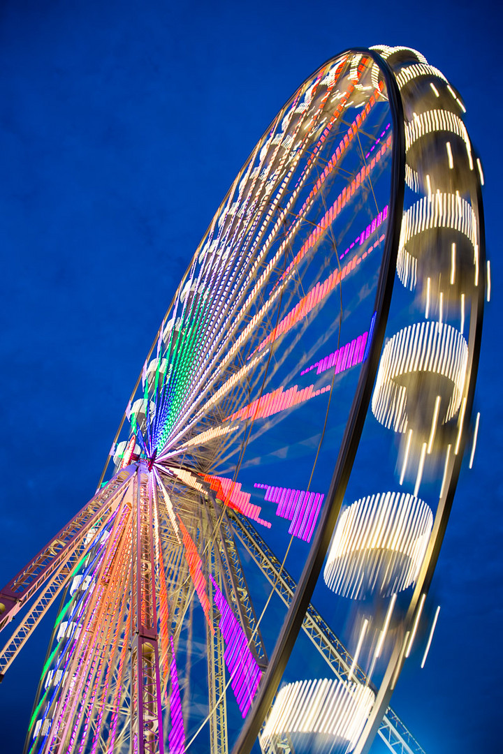
[(254, 484), (258, 489), (265, 489), (264, 500), (278, 504), (276, 515), (292, 523), (289, 534), (310, 542), (324, 501), (322, 492), (308, 492), (305, 489), (288, 489), (272, 487), (267, 484)]

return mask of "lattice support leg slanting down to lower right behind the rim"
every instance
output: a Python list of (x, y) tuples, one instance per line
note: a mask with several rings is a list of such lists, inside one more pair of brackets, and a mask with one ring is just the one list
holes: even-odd
[[(228, 519), (231, 521), (238, 539), (250, 553), (256, 565), (259, 566), (262, 574), (275, 588), (285, 605), (290, 605), (296, 590), (296, 582), (284, 568), (281, 568), (281, 562), (250, 521), (241, 516), (240, 513), (235, 513), (229, 509)], [(302, 629), (317, 650), (320, 651), (336, 677), (343, 681), (347, 680), (352, 657), (313, 605), (308, 607), (302, 621)], [(367, 682), (367, 676), (358, 666), (354, 667), (353, 677), (360, 683), (365, 684)], [(386, 710), (378, 733), (388, 749), (394, 754), (397, 754), (397, 752), (398, 754), (425, 754), (424, 749), (419, 746), (419, 743), (403, 725), (397, 714), (391, 710), (391, 707)], [(281, 742), (281, 745), (284, 746), (285, 743)]]

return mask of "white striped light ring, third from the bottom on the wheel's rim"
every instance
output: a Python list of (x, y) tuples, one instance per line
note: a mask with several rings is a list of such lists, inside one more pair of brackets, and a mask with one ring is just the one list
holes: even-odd
[(452, 382), (452, 397), (446, 409), (449, 421), (462, 400), (468, 363), (468, 344), (459, 330), (438, 322), (420, 322), (400, 330), (382, 351), (376, 387), (372, 397), (373, 415), (395, 432), (407, 429), (404, 385), (396, 378), (410, 372), (434, 372)]

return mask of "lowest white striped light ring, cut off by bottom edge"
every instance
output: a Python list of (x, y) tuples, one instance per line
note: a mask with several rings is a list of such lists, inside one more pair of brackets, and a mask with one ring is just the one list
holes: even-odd
[(260, 736), (262, 746), (271, 746), (281, 734), (326, 734), (336, 739), (331, 742), (331, 752), (351, 752), (373, 701), (370, 688), (336, 679), (285, 685)]

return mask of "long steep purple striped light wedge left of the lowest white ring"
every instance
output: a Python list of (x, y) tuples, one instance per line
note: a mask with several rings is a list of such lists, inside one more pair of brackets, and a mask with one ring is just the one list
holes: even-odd
[(232, 691), (238, 702), (241, 716), (246, 717), (259, 687), (262, 671), (248, 647), (244, 630), (235, 619), (215, 579), (213, 576), (210, 578), (213, 584), (213, 599), (220, 612), (219, 629), (225, 642), (223, 653), (225, 665), (231, 674)]

